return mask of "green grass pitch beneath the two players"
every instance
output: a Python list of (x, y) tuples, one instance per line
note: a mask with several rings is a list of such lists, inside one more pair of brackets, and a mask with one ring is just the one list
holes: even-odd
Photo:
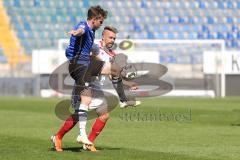
[[(82, 151), (78, 126), (65, 135), (64, 152), (50, 136), (62, 125), (54, 114), (61, 99), (0, 98), (0, 159), (238, 160), (240, 99), (155, 98), (137, 108), (116, 108), (96, 141)], [(88, 132), (93, 120), (88, 122)]]

